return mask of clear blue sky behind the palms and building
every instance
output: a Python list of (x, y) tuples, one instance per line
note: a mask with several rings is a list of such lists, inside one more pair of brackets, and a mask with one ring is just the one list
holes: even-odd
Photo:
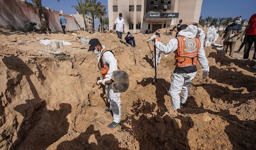
[[(108, 0), (98, 0), (108, 7)], [(31, 0), (27, 0), (31, 2)], [(56, 11), (63, 10), (64, 14), (74, 14), (76, 9), (71, 7), (77, 5), (77, 0), (42, 0), (44, 7), (49, 7)], [(239, 17), (250, 19), (250, 16), (256, 13), (256, 0), (203, 0), (201, 15), (203, 18), (211, 17)], [(107, 8), (108, 10), (108, 8)], [(99, 20), (95, 20), (95, 27)]]

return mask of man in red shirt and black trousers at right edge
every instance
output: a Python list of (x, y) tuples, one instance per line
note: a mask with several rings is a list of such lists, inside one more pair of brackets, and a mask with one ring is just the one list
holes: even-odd
[(245, 34), (248, 32), (247, 34), (247, 38), (246, 38), (246, 43), (245, 43), (245, 48), (244, 48), (244, 59), (249, 58), (249, 52), (250, 52), (250, 48), (253, 45), (254, 42), (254, 54), (253, 54), (253, 59), (256, 59), (255, 53), (256, 53), (256, 14), (253, 14), (250, 17), (250, 20), (248, 22), (248, 26), (246, 27), (245, 31), (244, 31), (244, 35), (242, 37), (242, 40), (244, 40), (245, 38)]

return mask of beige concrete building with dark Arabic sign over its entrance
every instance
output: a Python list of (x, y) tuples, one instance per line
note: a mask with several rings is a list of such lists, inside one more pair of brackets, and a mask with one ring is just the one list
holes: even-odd
[(179, 23), (199, 22), (203, 0), (108, 0), (109, 28), (119, 13), (125, 19), (125, 32), (155, 32)]

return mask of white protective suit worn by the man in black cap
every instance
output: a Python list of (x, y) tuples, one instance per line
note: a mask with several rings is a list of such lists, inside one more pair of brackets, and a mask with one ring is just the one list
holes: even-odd
[[(102, 45), (102, 51), (105, 49), (105, 46)], [(101, 53), (102, 53), (101, 51)], [(98, 63), (100, 60), (101, 56), (98, 57)], [(115, 56), (113, 55), (112, 52), (107, 51), (103, 54), (102, 58), (103, 63), (108, 65), (109, 71), (106, 76), (112, 77), (112, 73), (117, 70), (117, 61)], [(104, 77), (101, 76), (101, 80), (103, 80)], [(113, 121), (115, 123), (119, 123), (121, 121), (121, 99), (120, 95), (121, 93), (114, 93), (112, 89), (112, 85), (105, 85), (105, 94), (107, 96), (108, 103), (110, 103), (110, 110), (113, 112)]]

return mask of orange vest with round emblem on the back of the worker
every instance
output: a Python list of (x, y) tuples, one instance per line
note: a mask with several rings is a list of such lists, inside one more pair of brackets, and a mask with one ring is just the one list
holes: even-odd
[(196, 66), (201, 43), (197, 38), (177, 37), (178, 48), (175, 51), (176, 67)]

